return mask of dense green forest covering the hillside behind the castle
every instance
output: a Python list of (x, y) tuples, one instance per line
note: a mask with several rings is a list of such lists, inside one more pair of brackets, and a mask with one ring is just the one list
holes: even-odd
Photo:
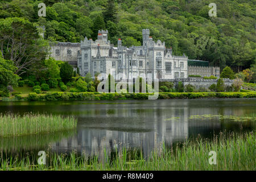
[[(46, 17), (38, 16), (40, 2), (46, 4)], [(217, 5), (217, 17), (208, 15), (211, 2)], [(239, 72), (256, 68), (255, 7), (256, 0), (0, 0), (0, 35), (5, 39), (6, 27), (15, 17), (27, 24), (27, 30), (31, 24), (45, 26), (48, 41), (80, 42), (85, 36), (96, 39), (97, 30), (107, 29), (113, 44), (121, 38), (129, 47), (141, 45), (142, 29), (149, 28), (152, 38), (166, 42), (175, 55), (184, 52), (189, 59), (207, 60), (221, 69), (228, 65)], [(16, 31), (24, 32), (18, 25)], [(37, 45), (32, 49), (42, 50), (46, 42), (36, 35), (30, 37)], [(2, 46), (3, 57), (10, 59), (5, 48)], [(32, 52), (34, 61), (45, 56), (43, 50)]]

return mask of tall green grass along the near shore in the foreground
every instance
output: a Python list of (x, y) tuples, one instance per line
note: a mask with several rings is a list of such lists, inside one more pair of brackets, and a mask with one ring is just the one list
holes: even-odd
[[(175, 148), (156, 148), (145, 160), (142, 152), (121, 148), (104, 156), (47, 154), (47, 164), (38, 165), (38, 156), (0, 154), (0, 170), (255, 170), (255, 132), (223, 135), (213, 140), (191, 139)], [(217, 164), (209, 164), (209, 151), (216, 151)]]

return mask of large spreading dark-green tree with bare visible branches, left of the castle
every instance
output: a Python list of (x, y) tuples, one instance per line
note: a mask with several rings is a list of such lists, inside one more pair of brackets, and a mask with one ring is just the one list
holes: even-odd
[(0, 20), (0, 45), (3, 58), (14, 62), (19, 76), (31, 67), (39, 69), (46, 57), (47, 42), (32, 23), (22, 18)]

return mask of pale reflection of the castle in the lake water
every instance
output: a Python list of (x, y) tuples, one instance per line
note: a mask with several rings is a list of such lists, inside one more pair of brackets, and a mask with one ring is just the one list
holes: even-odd
[[(86, 154), (102, 153), (104, 148), (115, 147), (142, 149), (144, 155), (150, 154), (164, 142), (167, 146), (181, 142), (192, 135), (210, 137), (213, 131), (220, 131), (217, 119), (189, 119), (191, 115), (225, 114), (230, 110), (208, 107), (190, 107), (185, 100), (177, 105), (150, 102), (145, 105), (92, 105), (86, 114), (80, 115), (77, 136), (53, 143), (52, 150), (65, 152), (76, 149)], [(173, 118), (173, 119), (168, 119)]]

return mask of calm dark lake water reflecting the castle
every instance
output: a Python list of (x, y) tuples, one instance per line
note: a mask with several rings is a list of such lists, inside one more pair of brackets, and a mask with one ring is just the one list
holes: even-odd
[(39, 151), (50, 146), (54, 152), (95, 154), (103, 148), (125, 146), (147, 155), (163, 142), (171, 146), (199, 134), (211, 138), (225, 130), (254, 130), (255, 122), (234, 122), (216, 115), (256, 113), (256, 99), (0, 102), (0, 113), (6, 112), (72, 114), (78, 126), (56, 134), (0, 138), (0, 148), (5, 150)]

